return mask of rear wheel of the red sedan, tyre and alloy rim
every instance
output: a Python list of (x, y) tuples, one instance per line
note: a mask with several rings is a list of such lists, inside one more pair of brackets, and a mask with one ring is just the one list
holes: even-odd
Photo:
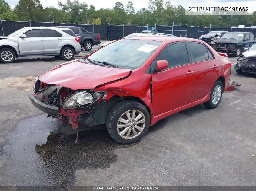
[(204, 106), (210, 109), (214, 109), (215, 107), (217, 107), (221, 102), (222, 93), (223, 84), (221, 83), (221, 81), (216, 81), (211, 90), (210, 100), (204, 102)]

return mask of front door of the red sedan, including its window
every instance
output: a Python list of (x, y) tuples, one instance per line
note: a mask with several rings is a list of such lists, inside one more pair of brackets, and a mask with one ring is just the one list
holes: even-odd
[(166, 70), (152, 74), (154, 115), (187, 105), (194, 83), (194, 70), (189, 64), (184, 42), (166, 46), (152, 63), (153, 67), (157, 60), (167, 60), (169, 66)]

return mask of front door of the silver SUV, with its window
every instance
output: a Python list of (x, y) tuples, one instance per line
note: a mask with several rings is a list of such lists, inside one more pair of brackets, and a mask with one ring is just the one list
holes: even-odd
[(32, 29), (23, 33), (27, 37), (19, 38), (20, 55), (38, 55), (44, 53), (41, 29)]

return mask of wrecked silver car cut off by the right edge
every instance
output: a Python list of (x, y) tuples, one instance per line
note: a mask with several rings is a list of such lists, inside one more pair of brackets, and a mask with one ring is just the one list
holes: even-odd
[(237, 59), (234, 69), (237, 73), (243, 72), (256, 74), (256, 43), (250, 48), (245, 48), (244, 53)]

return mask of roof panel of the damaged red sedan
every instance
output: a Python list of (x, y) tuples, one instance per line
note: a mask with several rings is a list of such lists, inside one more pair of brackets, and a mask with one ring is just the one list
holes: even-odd
[(128, 39), (135, 39), (135, 40), (154, 40), (154, 41), (160, 41), (160, 42), (165, 42), (167, 40), (170, 41), (194, 41), (194, 42), (199, 42), (202, 43), (201, 40), (198, 39), (193, 39), (193, 38), (186, 38), (186, 37), (172, 37), (172, 36), (165, 36), (165, 35), (150, 35), (150, 36), (145, 36), (145, 37), (131, 37)]

